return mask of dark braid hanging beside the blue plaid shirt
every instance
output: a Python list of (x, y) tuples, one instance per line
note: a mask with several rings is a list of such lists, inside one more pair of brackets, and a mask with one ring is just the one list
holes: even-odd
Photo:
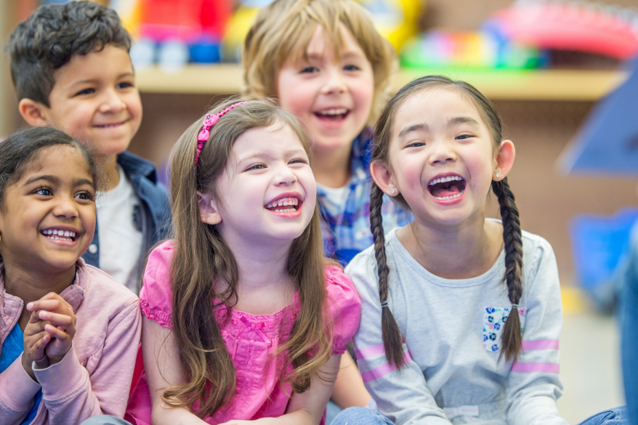
[(386, 351), (386, 359), (390, 365), (401, 368), (405, 364), (403, 357), (403, 345), (401, 344), (401, 331), (394, 320), (392, 311), (388, 307), (388, 275), (390, 269), (386, 264), (386, 237), (383, 235), (383, 191), (373, 183), (370, 191), (370, 230), (375, 241), (375, 258), (377, 259), (377, 273), (379, 274), (379, 300), (381, 300), (381, 335), (383, 335), (383, 348)]

